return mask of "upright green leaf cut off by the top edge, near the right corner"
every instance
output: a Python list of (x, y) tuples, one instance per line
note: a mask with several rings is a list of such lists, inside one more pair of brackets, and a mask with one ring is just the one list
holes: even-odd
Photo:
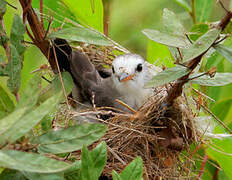
[(213, 0), (195, 0), (197, 22), (206, 22), (211, 14)]

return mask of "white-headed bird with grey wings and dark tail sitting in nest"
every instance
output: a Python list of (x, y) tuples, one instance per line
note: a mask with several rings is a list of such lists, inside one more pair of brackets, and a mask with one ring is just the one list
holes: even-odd
[(109, 75), (103, 77), (85, 54), (72, 51), (65, 40), (56, 39), (54, 43), (60, 69), (70, 72), (73, 78), (72, 97), (78, 110), (94, 105), (128, 111), (116, 100), (137, 110), (153, 95), (154, 90), (145, 88), (145, 84), (161, 69), (147, 63), (140, 55), (119, 55), (113, 60)]

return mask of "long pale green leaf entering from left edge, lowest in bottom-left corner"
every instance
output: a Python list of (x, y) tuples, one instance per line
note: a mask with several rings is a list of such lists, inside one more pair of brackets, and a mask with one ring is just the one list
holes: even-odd
[(35, 153), (14, 150), (0, 151), (0, 166), (36, 173), (56, 173), (70, 167), (63, 161), (57, 161)]

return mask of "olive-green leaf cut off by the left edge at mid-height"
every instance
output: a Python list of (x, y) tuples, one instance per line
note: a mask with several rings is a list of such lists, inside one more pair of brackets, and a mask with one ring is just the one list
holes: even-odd
[(7, 92), (6, 89), (4, 89), (0, 84), (0, 111), (5, 115), (11, 113), (15, 108), (15, 104), (10, 98), (9, 93), (10, 92)]

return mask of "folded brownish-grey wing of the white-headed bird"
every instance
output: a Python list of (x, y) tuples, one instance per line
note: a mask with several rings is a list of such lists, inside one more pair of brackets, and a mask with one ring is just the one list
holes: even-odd
[(73, 92), (75, 100), (88, 101), (97, 107), (115, 107), (115, 99), (119, 95), (109, 82), (111, 78), (103, 79), (87, 56), (73, 51), (70, 68), (76, 88), (76, 92)]

